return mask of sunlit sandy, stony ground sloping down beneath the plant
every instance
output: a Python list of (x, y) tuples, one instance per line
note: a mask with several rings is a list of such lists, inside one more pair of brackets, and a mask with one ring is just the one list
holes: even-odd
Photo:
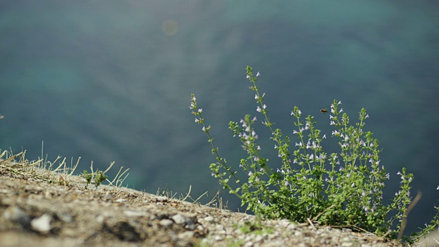
[(253, 215), (0, 166), (0, 246), (399, 246), (349, 229)]

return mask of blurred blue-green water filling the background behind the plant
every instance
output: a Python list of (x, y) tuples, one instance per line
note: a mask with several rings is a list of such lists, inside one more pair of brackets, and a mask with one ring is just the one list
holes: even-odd
[(438, 204), (437, 10), (436, 1), (390, 0), (2, 2), (0, 148), (33, 159), (44, 141), (52, 160), (81, 156), (80, 169), (92, 160), (129, 167), (136, 189), (192, 185), (195, 198), (213, 196), (215, 160), (189, 96), (237, 166), (244, 153), (227, 123), (256, 114), (250, 65), (285, 134), (295, 105), (327, 133), (318, 110), (333, 99), (351, 119), (368, 110), (366, 128), (391, 172), (386, 193), (397, 190), (403, 166), (415, 174), (413, 193), (423, 191), (409, 217), (414, 231)]

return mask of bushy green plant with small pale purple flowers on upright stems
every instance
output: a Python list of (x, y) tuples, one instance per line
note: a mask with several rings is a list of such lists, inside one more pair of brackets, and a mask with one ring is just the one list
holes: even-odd
[[(202, 124), (211, 143), (212, 154), (217, 163), (210, 165), (212, 176), (219, 179), (230, 193), (241, 199), (241, 205), (256, 215), (265, 218), (283, 218), (295, 222), (310, 222), (328, 226), (352, 228), (355, 231), (368, 231), (380, 236), (402, 238), (405, 218), (410, 211), (412, 198), (410, 182), (413, 174), (405, 168), (398, 172), (401, 176), (401, 189), (395, 194), (390, 204), (383, 202), (383, 187), (390, 174), (380, 165), (379, 142), (372, 132), (364, 130), (369, 115), (362, 108), (359, 121), (352, 125), (343, 108), (342, 102), (334, 100), (329, 115), (333, 126), (331, 137), (337, 139), (340, 152), (324, 152), (323, 144), (327, 134), (316, 128), (312, 116), (302, 119), (302, 112), (295, 106), (291, 112), (294, 117), (294, 141), (284, 137), (268, 117), (268, 107), (263, 103), (265, 93), (260, 93), (257, 78), (252, 68), (247, 67), (246, 77), (250, 81), (250, 89), (255, 92), (257, 112), (263, 119), (263, 126), (271, 132), (274, 148), (278, 152), (281, 163), (277, 167), (268, 164), (268, 158), (261, 155), (258, 145), (258, 134), (254, 128), (257, 117), (246, 115), (239, 123), (228, 124), (234, 137), (243, 143), (241, 146), (248, 154), (241, 158), (239, 167), (244, 171), (246, 181), (239, 179), (237, 171), (219, 156), (207, 126), (202, 117), (195, 95), (191, 95), (192, 114), (195, 122)], [(326, 110), (322, 110), (323, 113)], [(294, 145), (291, 143), (294, 142)], [(294, 150), (291, 150), (291, 148)], [(235, 180), (237, 186), (230, 183)], [(407, 210), (408, 208), (408, 210)], [(438, 209), (438, 208), (437, 208)], [(390, 213), (394, 214), (390, 216)], [(392, 230), (395, 220), (399, 222)], [(412, 237), (421, 237), (439, 224), (438, 214), (427, 227), (414, 233)], [(414, 239), (405, 237), (407, 242)]]

